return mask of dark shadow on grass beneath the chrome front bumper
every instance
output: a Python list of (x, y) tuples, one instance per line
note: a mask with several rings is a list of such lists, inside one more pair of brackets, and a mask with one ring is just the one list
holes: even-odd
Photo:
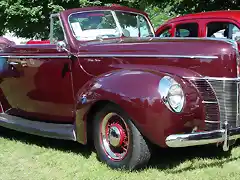
[[(237, 141), (233, 148), (239, 145), (240, 142)], [(238, 159), (240, 159), (240, 156), (232, 157), (231, 151), (224, 152), (221, 147), (217, 148), (215, 145), (168, 149), (154, 148), (149, 167), (177, 174), (207, 167), (223, 167), (223, 164)], [(184, 167), (179, 167), (181, 163), (186, 161), (188, 163)]]

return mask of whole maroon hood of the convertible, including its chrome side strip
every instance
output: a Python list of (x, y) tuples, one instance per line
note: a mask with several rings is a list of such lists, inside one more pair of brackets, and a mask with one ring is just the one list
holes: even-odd
[[(87, 58), (86, 61), (80, 61), (81, 65), (86, 72), (95, 76), (111, 71), (113, 68), (148, 68), (162, 71), (167, 70), (167, 66), (182, 68), (183, 71), (190, 69), (203, 76), (236, 76), (236, 49), (233, 48), (232, 42), (226, 40), (205, 38), (106, 39), (82, 44), (78, 55), (78, 57)], [(103, 57), (107, 59), (104, 60)], [(99, 68), (100, 66), (102, 68)], [(218, 70), (213, 71), (213, 67)]]

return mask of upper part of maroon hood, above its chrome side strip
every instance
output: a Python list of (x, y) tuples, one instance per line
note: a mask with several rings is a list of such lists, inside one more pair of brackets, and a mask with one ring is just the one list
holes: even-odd
[[(228, 42), (224, 42), (227, 46)], [(214, 56), (216, 48), (226, 48), (221, 40), (203, 38), (121, 38), (90, 41), (80, 45), (79, 53), (114, 55)], [(228, 43), (229, 44), (229, 43)]]

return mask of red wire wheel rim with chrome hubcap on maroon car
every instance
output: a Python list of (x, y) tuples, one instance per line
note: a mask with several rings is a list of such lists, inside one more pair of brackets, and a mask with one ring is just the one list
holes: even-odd
[(108, 113), (102, 120), (100, 133), (105, 154), (111, 160), (123, 160), (129, 149), (129, 129), (124, 119), (116, 113)]

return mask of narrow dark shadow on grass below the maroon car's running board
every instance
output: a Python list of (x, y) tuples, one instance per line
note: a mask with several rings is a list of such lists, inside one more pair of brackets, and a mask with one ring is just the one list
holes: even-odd
[(65, 141), (65, 140), (58, 140), (58, 139), (51, 139), (51, 138), (30, 135), (30, 134), (6, 129), (3, 127), (0, 127), (0, 137), (9, 139), (9, 140), (19, 141), (25, 144), (33, 144), (39, 147), (56, 149), (63, 152), (72, 152), (72, 153), (82, 155), (85, 158), (88, 158), (94, 151), (94, 148), (92, 145), (85, 146), (73, 141)]

